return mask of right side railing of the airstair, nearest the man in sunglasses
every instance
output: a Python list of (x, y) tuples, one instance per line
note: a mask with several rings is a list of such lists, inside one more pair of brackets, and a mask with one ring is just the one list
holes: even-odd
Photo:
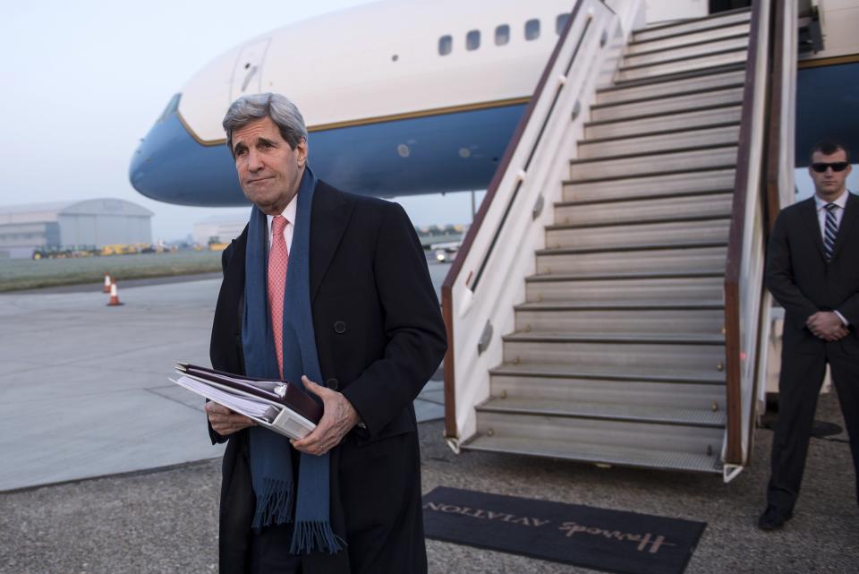
[(773, 170), (793, 171), (785, 159), (786, 150), (792, 151), (788, 114), (795, 72), (791, 75), (785, 58), (795, 42), (794, 22), (795, 0), (754, 0), (724, 282), (726, 482), (751, 460), (755, 407), (767, 364), (764, 341), (771, 304), (763, 270), (766, 240), (785, 185), (782, 178), (773, 179)]

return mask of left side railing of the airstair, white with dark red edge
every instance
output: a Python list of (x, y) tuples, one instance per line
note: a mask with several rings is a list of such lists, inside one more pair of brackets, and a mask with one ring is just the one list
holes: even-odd
[[(641, 0), (624, 0), (612, 4), (637, 5), (641, 3)], [(594, 37), (595, 33), (599, 34), (599, 32), (593, 31), (597, 28), (591, 26), (594, 21), (600, 22), (601, 37), (600, 35)], [(476, 300), (474, 294), (476, 289), (482, 285), (481, 279), (484, 278), (484, 271), (487, 270), (488, 265), (498, 265), (498, 261), (495, 261), (493, 257), (498, 257), (499, 239), (502, 243), (504, 241), (509, 242), (511, 234), (516, 232), (513, 228), (521, 227), (518, 223), (520, 220), (516, 220), (517, 223), (513, 224), (509, 216), (515, 208), (518, 208), (515, 211), (517, 214), (523, 210), (523, 198), (532, 198), (534, 185), (539, 176), (529, 173), (528, 168), (532, 166), (535, 153), (540, 146), (548, 145), (546, 141), (557, 141), (558, 139), (557, 133), (560, 128), (555, 124), (550, 124), (550, 120), (558, 119), (562, 105), (569, 106), (563, 110), (567, 122), (572, 116), (574, 124), (576, 121), (581, 124), (582, 117), (586, 116), (583, 112), (586, 111), (589, 104), (583, 99), (583, 94), (571, 92), (571, 90), (582, 90), (583, 86), (587, 85), (585, 80), (579, 77), (582, 73), (576, 74), (576, 72), (579, 69), (588, 70), (590, 75), (587, 76), (587, 81), (591, 81), (591, 84), (596, 81), (594, 78), (600, 74), (591, 73), (591, 70), (598, 65), (593, 59), (582, 63), (577, 60), (577, 57), (585, 40), (587, 40), (587, 47), (596, 46), (597, 51), (606, 46), (609, 39), (609, 21), (618, 30), (618, 34), (621, 30), (620, 27), (626, 23), (623, 17), (618, 16), (612, 8), (599, 0), (576, 0), (564, 30), (562, 30), (549, 58), (549, 63), (544, 68), (528, 107), (517, 124), (515, 133), (506, 147), (495, 175), (492, 177), (486, 196), (481, 202), (480, 210), (475, 215), (472, 226), (469, 227), (463, 244), (441, 287), (442, 312), (447, 326), (448, 340), (444, 363), (445, 436), (448, 444), (454, 450), (458, 450), (460, 439), (460, 428), (456, 418), (457, 364), (455, 356), (458, 349), (463, 347), (463, 342), (456, 340), (457, 328), (455, 326), (461, 323), (463, 317), (470, 311), (472, 311), (472, 316), (468, 317), (468, 321), (489, 321), (483, 317), (475, 318), (478, 313), (472, 310), (472, 305)], [(617, 56), (619, 57), (619, 51)], [(577, 62), (580, 64), (578, 68), (574, 65)], [(574, 100), (575, 107), (572, 106), (569, 99), (571, 93), (575, 93), (576, 98), (579, 98)], [(560, 181), (559, 175), (557, 181)], [(533, 223), (535, 224), (540, 223), (541, 213), (542, 217), (545, 217), (541, 199), (542, 195), (538, 198), (540, 205), (535, 204), (533, 207)], [(529, 212), (529, 215), (532, 214), (531, 205), (528, 205), (524, 210)], [(491, 226), (487, 225), (489, 219), (492, 221)], [(463, 278), (466, 261), (469, 261), (469, 272)], [(485, 289), (481, 289), (481, 291), (483, 290)], [(457, 296), (457, 293), (462, 295)], [(478, 306), (480, 304), (481, 302), (478, 303)], [(469, 338), (475, 337), (470, 336)], [(474, 342), (476, 349), (480, 343), (476, 340)], [(468, 347), (471, 350), (471, 344)], [(492, 351), (498, 352), (498, 349), (492, 349)]]

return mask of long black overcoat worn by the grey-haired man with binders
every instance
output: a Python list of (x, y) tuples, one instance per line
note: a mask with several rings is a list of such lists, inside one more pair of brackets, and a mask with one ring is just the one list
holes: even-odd
[[(212, 366), (244, 373), (241, 315), (247, 228), (224, 252)], [(260, 293), (259, 296), (266, 296)], [(348, 553), (314, 553), (304, 571), (426, 571), (420, 455), (412, 401), (447, 349), (438, 298), (409, 218), (397, 204), (317, 184), (310, 298), (324, 381), (353, 404), (355, 428), (331, 451), (331, 518)], [(225, 441), (209, 426), (213, 441)], [(220, 509), (221, 572), (246, 568), (253, 493), (247, 432), (229, 438)]]

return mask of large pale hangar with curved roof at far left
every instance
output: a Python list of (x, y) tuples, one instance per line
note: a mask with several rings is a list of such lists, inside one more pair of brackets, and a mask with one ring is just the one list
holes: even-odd
[(29, 258), (38, 248), (151, 244), (153, 215), (110, 198), (0, 207), (0, 258)]

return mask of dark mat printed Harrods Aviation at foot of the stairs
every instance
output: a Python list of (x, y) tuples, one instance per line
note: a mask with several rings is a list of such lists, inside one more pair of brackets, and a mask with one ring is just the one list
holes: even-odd
[(704, 522), (439, 486), (428, 538), (622, 574), (682, 574)]

